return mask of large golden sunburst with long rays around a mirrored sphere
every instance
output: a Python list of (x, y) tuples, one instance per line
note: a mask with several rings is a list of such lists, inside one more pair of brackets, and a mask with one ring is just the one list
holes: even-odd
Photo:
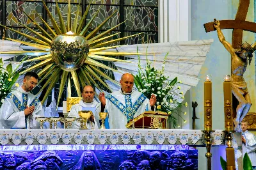
[[(44, 1), (42, 1), (44, 3)], [(93, 19), (98, 15), (99, 10), (93, 15), (92, 19), (84, 26), (84, 20), (86, 19), (86, 15), (88, 14), (88, 11), (90, 9), (90, 4), (88, 5), (88, 8), (86, 8), (86, 11), (83, 14), (83, 17), (80, 21), (78, 21), (79, 18), (79, 8), (76, 12), (76, 17), (74, 19), (74, 23), (71, 24), (71, 6), (70, 6), (70, 0), (68, 0), (68, 16), (67, 16), (67, 26), (64, 23), (63, 17), (61, 16), (60, 8), (58, 6), (58, 3), (56, 1), (56, 8), (58, 12), (58, 17), (60, 19), (60, 26), (56, 24), (56, 20), (52, 17), (51, 12), (47, 8), (46, 4), (44, 3), (44, 8), (47, 11), (47, 14), (49, 18), (51, 19), (52, 26), (54, 27), (54, 30), (45, 22), (40, 15), (40, 20), (45, 24), (45, 27), (47, 29), (43, 29), (43, 27), (39, 26), (38, 23), (35, 22), (29, 15), (21, 10), (30, 20), (35, 24), (36, 27), (42, 32), (38, 33), (34, 31), (33, 29), (29, 28), (28, 26), (25, 26), (24, 24), (21, 24), (22, 26), (26, 27), (31, 33), (34, 33), (35, 35), (39, 36), (40, 38), (35, 38), (30, 35), (26, 35), (24, 33), (21, 33), (20, 31), (16, 31), (15, 29), (12, 29), (10, 27), (6, 27), (7, 29), (10, 29), (16, 33), (19, 33), (22, 36), (25, 36), (26, 38), (29, 38), (29, 40), (32, 40), (33, 42), (24, 42), (20, 40), (14, 40), (12, 38), (5, 38), (6, 40), (12, 40), (14, 42), (23, 43), (25, 45), (36, 47), (36, 49), (33, 51), (33, 54), (39, 55), (37, 58), (28, 59), (24, 62), (29, 61), (41, 61), (40, 63), (31, 66), (30, 68), (24, 70), (23, 72), (20, 72), (20, 74), (29, 72), (31, 70), (34, 70), (35, 68), (39, 68), (41, 66), (45, 66), (39, 73), (38, 76), (42, 77), (40, 79), (40, 82), (42, 82), (44, 79), (47, 79), (47, 81), (44, 83), (42, 88), (40, 89), (39, 93), (45, 89), (48, 85), (49, 88), (47, 89), (44, 99), (42, 100), (42, 103), (45, 102), (49, 94), (51, 93), (52, 88), (54, 88), (55, 84), (58, 82), (58, 78), (61, 77), (60, 82), (60, 91), (58, 95), (58, 102), (57, 105), (60, 102), (61, 94), (63, 92), (63, 88), (65, 86), (65, 82), (67, 81), (67, 78), (72, 77), (74, 81), (74, 85), (76, 86), (77, 95), (81, 97), (81, 91), (80, 91), (80, 84), (82, 86), (86, 84), (93, 84), (95, 85), (99, 90), (100, 87), (97, 86), (97, 83), (93, 79), (97, 79), (100, 83), (102, 83), (106, 88), (108, 88), (110, 91), (111, 89), (108, 87), (108, 85), (104, 82), (104, 80), (100, 79), (101, 77), (104, 77), (104, 79), (108, 79), (109, 81), (118, 84), (115, 80), (111, 79), (108, 75), (100, 71), (100, 68), (116, 71), (115, 69), (106, 66), (102, 63), (99, 63), (97, 60), (102, 61), (122, 61), (122, 62), (129, 62), (122, 59), (115, 59), (108, 56), (126, 56), (126, 55), (134, 55), (137, 53), (127, 53), (127, 52), (106, 52), (104, 50), (106, 49), (113, 49), (115, 47), (120, 46), (112, 46), (108, 47), (109, 44), (119, 42), (120, 40), (124, 40), (125, 38), (129, 38), (131, 36), (125, 36), (124, 38), (117, 38), (115, 40), (108, 40), (108, 38), (111, 38), (117, 34), (113, 34), (110, 36), (106, 36), (110, 31), (118, 27), (120, 24), (123, 24), (124, 22), (111, 27), (111, 29), (108, 29), (108, 31), (104, 31), (103, 33), (100, 33), (99, 35), (96, 35), (100, 29), (118, 10), (115, 10), (106, 20), (104, 20), (99, 26), (97, 26), (90, 34), (86, 36), (86, 32), (88, 31), (88, 28), (93, 22)], [(83, 27), (84, 26), (84, 27)], [(138, 34), (136, 34), (138, 35)], [(136, 36), (132, 35), (132, 36)], [(106, 41), (108, 40), (108, 41)], [(44, 53), (44, 55), (41, 55)], [(28, 55), (31, 56), (31, 51), (8, 51), (8, 52), (1, 52), (0, 54), (17, 54), (17, 55)], [(92, 77), (92, 76), (93, 77)], [(68, 82), (70, 83), (70, 79), (68, 79)]]

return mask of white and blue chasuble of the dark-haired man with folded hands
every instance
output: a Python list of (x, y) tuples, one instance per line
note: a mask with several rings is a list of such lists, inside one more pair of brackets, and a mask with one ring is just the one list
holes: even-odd
[[(29, 116), (25, 116), (26, 106), (35, 106), (35, 110)], [(40, 100), (21, 87), (8, 94), (0, 109), (1, 128), (39, 128), (40, 123), (36, 117), (44, 117)]]

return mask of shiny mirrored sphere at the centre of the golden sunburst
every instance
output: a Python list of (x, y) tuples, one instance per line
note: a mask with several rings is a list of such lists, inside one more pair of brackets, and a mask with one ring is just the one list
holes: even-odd
[(51, 43), (51, 54), (62, 70), (72, 72), (80, 68), (87, 58), (89, 45), (84, 36), (58, 35)]

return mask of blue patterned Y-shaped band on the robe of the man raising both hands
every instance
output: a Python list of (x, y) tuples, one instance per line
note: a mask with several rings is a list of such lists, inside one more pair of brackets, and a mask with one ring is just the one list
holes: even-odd
[(134, 105), (132, 105), (131, 94), (125, 94), (125, 105), (118, 101), (111, 94), (106, 95), (106, 98), (114, 104), (127, 118), (127, 122), (133, 119), (134, 114), (138, 111), (139, 107), (146, 100), (146, 96), (141, 94), (140, 97), (136, 100)]

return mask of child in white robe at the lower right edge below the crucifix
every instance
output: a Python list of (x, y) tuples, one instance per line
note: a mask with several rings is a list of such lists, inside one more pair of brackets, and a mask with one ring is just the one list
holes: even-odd
[(253, 169), (256, 169), (256, 136), (248, 132), (248, 121), (241, 122), (242, 128), (242, 149), (243, 155), (247, 152), (252, 162)]

